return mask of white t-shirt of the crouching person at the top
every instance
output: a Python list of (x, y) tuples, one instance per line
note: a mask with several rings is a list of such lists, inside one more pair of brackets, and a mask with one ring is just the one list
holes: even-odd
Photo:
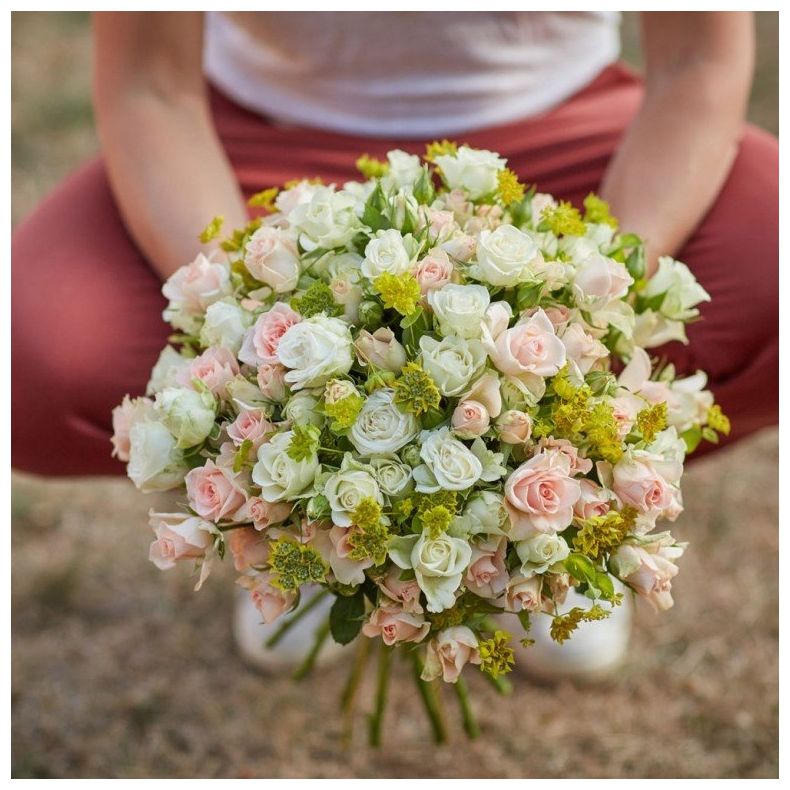
[(216, 12), (204, 69), (280, 123), (377, 137), (537, 115), (620, 52), (612, 12)]

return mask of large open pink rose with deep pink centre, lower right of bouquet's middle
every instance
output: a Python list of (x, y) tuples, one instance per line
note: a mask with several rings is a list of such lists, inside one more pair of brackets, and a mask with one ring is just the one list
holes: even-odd
[(573, 506), (581, 494), (571, 477), (568, 457), (543, 450), (525, 461), (505, 483), (505, 506), (513, 540), (534, 532), (557, 532), (573, 520)]

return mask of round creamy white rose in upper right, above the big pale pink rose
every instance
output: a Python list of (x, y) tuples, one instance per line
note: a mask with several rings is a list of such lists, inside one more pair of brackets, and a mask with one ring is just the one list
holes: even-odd
[(477, 264), (472, 276), (507, 288), (529, 280), (543, 263), (535, 240), (513, 225), (484, 230), (477, 238)]

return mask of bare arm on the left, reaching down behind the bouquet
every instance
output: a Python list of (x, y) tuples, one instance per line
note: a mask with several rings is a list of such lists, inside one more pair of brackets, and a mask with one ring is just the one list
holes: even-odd
[(127, 229), (166, 278), (194, 258), (213, 216), (224, 215), (229, 227), (246, 222), (209, 113), (203, 14), (97, 13), (94, 44), (94, 105), (110, 184)]

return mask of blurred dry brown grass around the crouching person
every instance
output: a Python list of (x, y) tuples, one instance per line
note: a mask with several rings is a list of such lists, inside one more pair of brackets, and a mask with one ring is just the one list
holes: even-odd
[[(637, 16), (623, 15), (624, 55), (639, 66)], [(755, 16), (749, 115), (778, 133), (778, 14)], [(98, 149), (90, 62), (88, 14), (13, 13), (14, 224)], [(343, 668), (294, 684), (241, 663), (228, 563), (195, 594), (186, 569), (147, 561), (156, 497), (14, 474), (13, 776), (776, 777), (776, 431), (692, 464), (683, 490), (676, 606), (639, 612), (616, 681), (516, 678), (504, 700), (473, 682), (484, 737), (459, 726), (438, 749), (396, 681), (375, 752), (364, 711), (339, 746)]]

